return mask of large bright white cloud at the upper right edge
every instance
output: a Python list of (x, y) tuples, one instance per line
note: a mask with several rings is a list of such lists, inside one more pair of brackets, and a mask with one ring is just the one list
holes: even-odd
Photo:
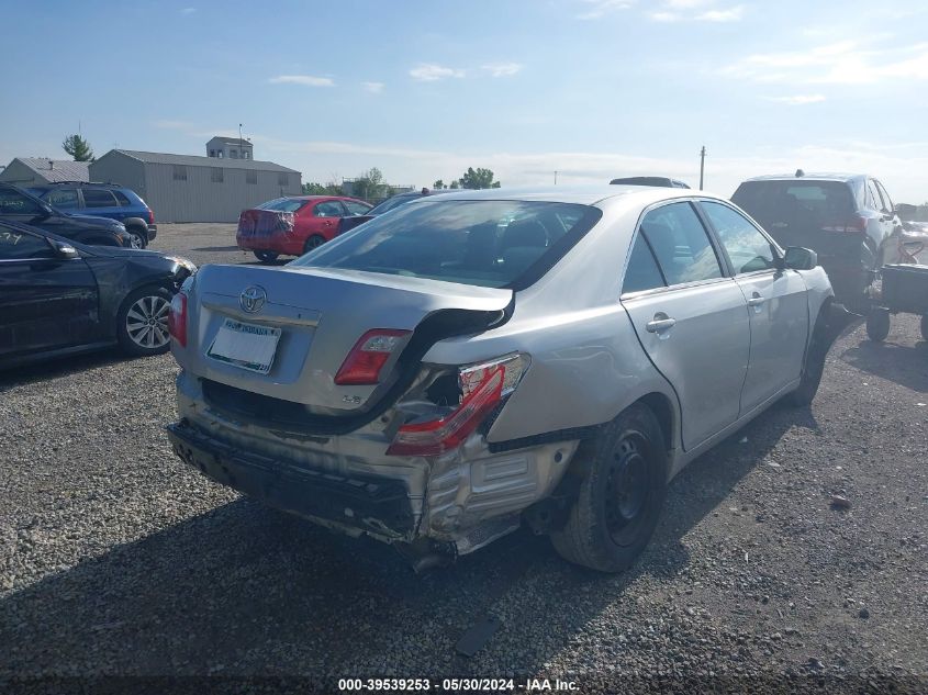
[(723, 75), (761, 82), (866, 85), (884, 79), (928, 79), (928, 43), (873, 48), (873, 41), (840, 41), (805, 51), (748, 56)]

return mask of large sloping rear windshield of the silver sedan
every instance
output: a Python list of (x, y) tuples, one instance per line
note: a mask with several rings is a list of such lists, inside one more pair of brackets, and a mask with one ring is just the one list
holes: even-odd
[(292, 265), (519, 290), (599, 221), (596, 208), (526, 201), (423, 201), (346, 233)]

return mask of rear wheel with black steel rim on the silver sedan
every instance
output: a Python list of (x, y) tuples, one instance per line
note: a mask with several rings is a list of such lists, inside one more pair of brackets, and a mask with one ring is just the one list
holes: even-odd
[(584, 467), (580, 490), (551, 542), (569, 562), (620, 572), (648, 545), (663, 506), (667, 451), (660, 425), (637, 403), (584, 446), (589, 458), (577, 461)]

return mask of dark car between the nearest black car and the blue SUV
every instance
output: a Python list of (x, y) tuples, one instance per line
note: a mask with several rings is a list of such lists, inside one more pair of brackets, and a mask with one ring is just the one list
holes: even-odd
[(125, 225), (108, 217), (68, 215), (10, 183), (0, 183), (0, 221), (21, 222), (79, 244), (132, 246)]

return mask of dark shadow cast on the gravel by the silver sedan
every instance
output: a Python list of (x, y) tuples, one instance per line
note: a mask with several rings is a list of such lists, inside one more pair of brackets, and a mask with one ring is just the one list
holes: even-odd
[[(527, 530), (416, 575), (387, 546), (239, 498), (1, 599), (0, 680), (412, 676), (412, 659), (433, 673), (535, 673), (626, 587), (685, 572), (686, 533), (796, 426), (817, 429), (808, 411), (774, 408), (694, 461), (671, 484), (641, 559), (614, 576), (567, 564)], [(458, 654), (488, 615), (501, 620), (496, 634), (472, 659)]]

